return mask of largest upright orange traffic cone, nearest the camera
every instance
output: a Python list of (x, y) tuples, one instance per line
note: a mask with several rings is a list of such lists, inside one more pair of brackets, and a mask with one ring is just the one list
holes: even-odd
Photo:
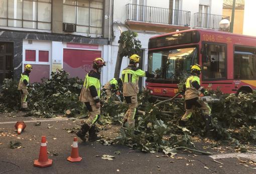
[(52, 159), (48, 159), (46, 136), (42, 136), (39, 158), (34, 160), (34, 166), (48, 167), (52, 165)]

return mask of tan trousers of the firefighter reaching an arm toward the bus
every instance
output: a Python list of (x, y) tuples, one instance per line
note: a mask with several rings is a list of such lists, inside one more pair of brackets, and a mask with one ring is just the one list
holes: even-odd
[(134, 117), (135, 117), (136, 109), (138, 106), (137, 95), (125, 96), (124, 98), (126, 103), (129, 105), (129, 108), (123, 117), (123, 122), (127, 121), (129, 127), (134, 127), (135, 126)]

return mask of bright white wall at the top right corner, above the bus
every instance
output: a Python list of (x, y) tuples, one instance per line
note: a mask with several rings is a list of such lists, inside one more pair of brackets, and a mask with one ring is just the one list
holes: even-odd
[[(253, 12), (255, 11), (256, 1), (245, 0), (243, 16), (243, 34), (256, 36), (256, 23), (254, 22)], [(242, 24), (241, 24), (242, 25)]]

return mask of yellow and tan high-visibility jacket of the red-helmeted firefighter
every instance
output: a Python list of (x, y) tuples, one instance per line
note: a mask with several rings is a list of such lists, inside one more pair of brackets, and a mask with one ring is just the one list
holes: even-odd
[(91, 70), (84, 79), (79, 101), (89, 102), (90, 105), (99, 102), (100, 96), (100, 74)]

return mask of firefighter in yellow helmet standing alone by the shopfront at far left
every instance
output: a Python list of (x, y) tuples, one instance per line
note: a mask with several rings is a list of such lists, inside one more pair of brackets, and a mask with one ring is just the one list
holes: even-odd
[(28, 102), (27, 97), (29, 95), (28, 87), (29, 84), (29, 74), (32, 71), (32, 66), (30, 64), (27, 64), (25, 66), (25, 71), (21, 74), (21, 79), (19, 82), (18, 90), (21, 91), (21, 110), (22, 111), (28, 111)]

